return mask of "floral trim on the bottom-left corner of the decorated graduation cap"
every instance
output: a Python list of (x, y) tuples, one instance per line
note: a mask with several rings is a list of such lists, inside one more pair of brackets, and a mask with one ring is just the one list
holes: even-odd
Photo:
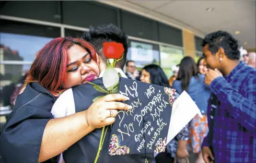
[(109, 154), (113, 156), (113, 155), (128, 154), (130, 152), (130, 149), (126, 145), (119, 146), (117, 135), (113, 134), (111, 137), (111, 142), (110, 142), (108, 151), (109, 151)]

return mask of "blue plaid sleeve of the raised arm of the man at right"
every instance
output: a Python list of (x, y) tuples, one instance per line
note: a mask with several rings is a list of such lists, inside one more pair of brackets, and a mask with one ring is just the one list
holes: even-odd
[(256, 131), (256, 78), (246, 82), (246, 98), (234, 89), (223, 77), (215, 78), (210, 84), (211, 91), (221, 103), (227, 105), (230, 115), (251, 132)]

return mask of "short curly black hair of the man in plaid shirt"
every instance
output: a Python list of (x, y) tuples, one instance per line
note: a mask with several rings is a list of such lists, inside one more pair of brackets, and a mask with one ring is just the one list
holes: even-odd
[(217, 31), (205, 36), (202, 46), (209, 45), (209, 51), (215, 54), (220, 47), (225, 51), (229, 59), (240, 59), (240, 50), (238, 41), (228, 32)]

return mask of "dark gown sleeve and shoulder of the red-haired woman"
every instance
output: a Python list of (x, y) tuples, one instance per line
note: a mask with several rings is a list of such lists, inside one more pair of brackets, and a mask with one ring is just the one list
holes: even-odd
[[(17, 97), (0, 136), (4, 163), (38, 163), (42, 136), (56, 98), (39, 83), (30, 83)], [(44, 163), (56, 163), (56, 157)]]

